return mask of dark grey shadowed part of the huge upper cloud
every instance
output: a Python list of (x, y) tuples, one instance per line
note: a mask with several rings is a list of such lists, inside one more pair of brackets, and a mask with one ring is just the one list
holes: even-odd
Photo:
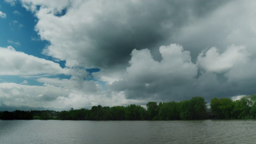
[[(106, 10), (94, 16), (95, 24), (86, 35), (96, 48), (90, 58), (98, 67), (125, 64), (133, 49), (158, 49), (172, 42), (178, 30), (194, 18), (207, 16), (222, 2), (215, 1), (140, 1), (122, 5), (122, 9)], [(194, 6), (191, 8), (191, 5)], [(115, 5), (114, 5), (115, 6)], [(95, 26), (96, 25), (96, 26)], [(157, 51), (156, 51), (157, 52)], [(153, 54), (153, 55), (158, 55)], [(83, 55), (88, 58), (87, 54)]]

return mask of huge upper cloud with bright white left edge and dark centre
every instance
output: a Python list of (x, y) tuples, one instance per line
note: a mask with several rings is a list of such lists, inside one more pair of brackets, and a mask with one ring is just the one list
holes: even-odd
[[(189, 25), (192, 21), (190, 18), (205, 16), (221, 4), (220, 1), (215, 2), (216, 4), (209, 3), (201, 4), (196, 0), (104, 3), (85, 1), (78, 7), (70, 6), (66, 15), (61, 18), (51, 16), (49, 19), (44, 19), (42, 16), (49, 13), (43, 14), (41, 10), (42, 13), (38, 12), (37, 30), (42, 38), (49, 40), (52, 44), (45, 50), (46, 54), (64, 59), (71, 65), (76, 61), (79, 66), (110, 68), (127, 64), (130, 52), (134, 48), (138, 50), (148, 48), (152, 52), (156, 51), (153, 56), (157, 58), (159, 52), (154, 48), (166, 41), (169, 44), (170, 36), (175, 35), (184, 25)], [(211, 10), (204, 12), (203, 9), (208, 8)], [(72, 22), (66, 21), (70, 20), (70, 17), (73, 17)], [(55, 21), (49, 29), (51, 32), (48, 31), (48, 26), (42, 25), (48, 20)], [(60, 22), (65, 24), (63, 29), (71, 31), (59, 31), (58, 29), (62, 27)], [(54, 28), (53, 31), (52, 28)], [(46, 35), (49, 32), (61, 36), (58, 36), (58, 39), (52, 38)]]

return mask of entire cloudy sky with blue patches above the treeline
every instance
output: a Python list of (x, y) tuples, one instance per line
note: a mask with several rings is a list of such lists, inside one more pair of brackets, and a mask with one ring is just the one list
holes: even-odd
[(1, 0), (0, 111), (256, 94), (255, 0)]

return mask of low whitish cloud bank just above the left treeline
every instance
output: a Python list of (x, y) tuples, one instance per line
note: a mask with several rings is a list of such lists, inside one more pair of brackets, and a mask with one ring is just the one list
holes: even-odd
[[(64, 80), (66, 81), (66, 80)], [(117, 106), (144, 104), (146, 100), (126, 100), (123, 92), (70, 90), (52, 84), (29, 86), (15, 83), (0, 83), (0, 110), (6, 108), (38, 110), (68, 110), (92, 106)]]

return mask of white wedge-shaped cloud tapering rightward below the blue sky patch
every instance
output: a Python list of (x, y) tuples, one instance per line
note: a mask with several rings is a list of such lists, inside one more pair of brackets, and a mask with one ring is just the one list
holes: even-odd
[(0, 48), (0, 75), (65, 74), (59, 64), (17, 52), (12, 46)]

